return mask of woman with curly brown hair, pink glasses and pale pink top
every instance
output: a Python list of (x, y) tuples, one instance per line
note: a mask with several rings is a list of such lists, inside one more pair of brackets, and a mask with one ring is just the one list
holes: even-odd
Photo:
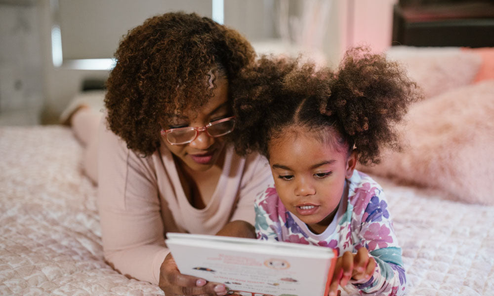
[[(105, 258), (166, 296), (226, 294), (179, 273), (166, 232), (254, 237), (253, 200), (272, 177), (264, 158), (227, 141), (230, 82), (254, 55), (236, 31), (184, 13), (146, 20), (116, 52), (97, 145)], [(87, 112), (72, 116), (76, 131), (90, 126)]]

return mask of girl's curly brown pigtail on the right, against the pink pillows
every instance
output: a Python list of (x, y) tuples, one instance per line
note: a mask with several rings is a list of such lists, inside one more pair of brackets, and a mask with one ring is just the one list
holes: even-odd
[(379, 163), (383, 146), (400, 149), (395, 123), (419, 98), (403, 68), (369, 49), (355, 48), (346, 52), (331, 84), (321, 112), (338, 118), (361, 163)]

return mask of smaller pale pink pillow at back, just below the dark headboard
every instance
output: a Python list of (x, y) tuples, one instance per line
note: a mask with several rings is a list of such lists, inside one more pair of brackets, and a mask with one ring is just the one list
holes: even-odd
[(471, 84), (482, 64), (481, 56), (459, 47), (393, 46), (386, 55), (408, 69), (425, 98)]

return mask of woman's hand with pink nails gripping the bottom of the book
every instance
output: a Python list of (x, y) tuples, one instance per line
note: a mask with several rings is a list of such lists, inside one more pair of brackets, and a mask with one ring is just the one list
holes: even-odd
[(206, 282), (206, 280), (190, 275), (181, 274), (177, 264), (168, 254), (161, 264), (160, 288), (166, 296), (222, 296), (226, 295), (223, 284)]

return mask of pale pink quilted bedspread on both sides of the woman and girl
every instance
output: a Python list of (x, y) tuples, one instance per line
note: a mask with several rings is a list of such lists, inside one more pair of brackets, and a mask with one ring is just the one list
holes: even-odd
[[(0, 128), (0, 295), (164, 295), (103, 259), (96, 188), (61, 126)], [(407, 295), (494, 295), (494, 207), (383, 186)]]

